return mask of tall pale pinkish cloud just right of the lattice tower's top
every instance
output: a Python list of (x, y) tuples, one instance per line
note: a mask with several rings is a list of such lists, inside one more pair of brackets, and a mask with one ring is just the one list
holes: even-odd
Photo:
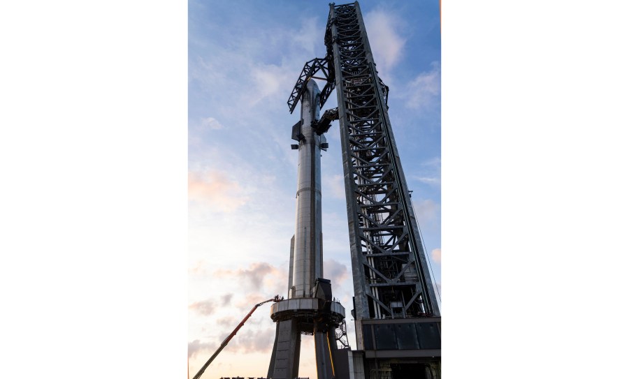
[(369, 45), (378, 65), (378, 73), (381, 77), (387, 76), (391, 68), (402, 57), (403, 47), (406, 43), (406, 40), (396, 31), (396, 26), (401, 22), (400, 18), (393, 13), (376, 9), (367, 13), (364, 19), (369, 36)]

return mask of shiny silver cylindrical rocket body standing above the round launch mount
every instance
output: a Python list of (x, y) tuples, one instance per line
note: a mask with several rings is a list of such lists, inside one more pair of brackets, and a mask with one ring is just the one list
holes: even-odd
[(297, 166), (297, 207), (290, 298), (310, 297), (315, 279), (323, 277), (321, 247), (321, 138), (311, 124), (319, 119), (319, 87), (308, 80), (301, 101), (301, 134)]

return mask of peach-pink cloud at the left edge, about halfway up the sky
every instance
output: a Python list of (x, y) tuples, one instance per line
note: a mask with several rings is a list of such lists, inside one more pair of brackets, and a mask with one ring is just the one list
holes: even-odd
[(188, 199), (208, 205), (213, 211), (232, 212), (248, 198), (237, 181), (217, 170), (188, 173)]

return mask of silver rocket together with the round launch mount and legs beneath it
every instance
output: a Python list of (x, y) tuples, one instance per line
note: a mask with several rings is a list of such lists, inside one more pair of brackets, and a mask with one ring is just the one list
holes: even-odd
[[(340, 378), (335, 364), (343, 354), (337, 350), (335, 332), (345, 318), (345, 309), (332, 297), (331, 282), (323, 277), (321, 246), (321, 149), (324, 134), (317, 134), (319, 87), (314, 80), (304, 84), (301, 119), (291, 137), (298, 144), (295, 235), (291, 239), (288, 299), (271, 306), (277, 323), (268, 376), (273, 379), (298, 377), (301, 334), (315, 337), (315, 359), (319, 379)], [(347, 356), (347, 352), (345, 352)], [(338, 358), (341, 357), (341, 358)]]

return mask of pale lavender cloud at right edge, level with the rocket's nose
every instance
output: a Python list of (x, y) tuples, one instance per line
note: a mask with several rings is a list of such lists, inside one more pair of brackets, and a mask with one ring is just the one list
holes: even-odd
[(432, 110), (440, 103), (441, 66), (439, 62), (431, 64), (432, 69), (417, 75), (408, 84), (406, 106), (415, 110)]

